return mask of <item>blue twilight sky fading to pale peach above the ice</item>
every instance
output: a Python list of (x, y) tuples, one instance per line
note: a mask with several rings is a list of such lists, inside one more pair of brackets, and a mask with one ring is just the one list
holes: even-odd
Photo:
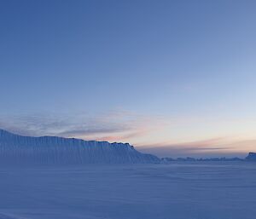
[(256, 151), (255, 1), (1, 1), (0, 129), (160, 157)]

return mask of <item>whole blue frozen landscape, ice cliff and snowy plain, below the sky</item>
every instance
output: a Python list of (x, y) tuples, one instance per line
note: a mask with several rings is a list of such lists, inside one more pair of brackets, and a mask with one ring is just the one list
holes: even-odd
[(5, 130), (0, 152), (0, 219), (256, 216), (254, 153), (247, 161), (166, 164), (128, 144)]

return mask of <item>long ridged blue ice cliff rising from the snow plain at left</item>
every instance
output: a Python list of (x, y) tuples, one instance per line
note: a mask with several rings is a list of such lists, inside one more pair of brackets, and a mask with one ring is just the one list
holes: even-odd
[(29, 137), (0, 130), (0, 164), (145, 164), (159, 163), (129, 144), (55, 136)]

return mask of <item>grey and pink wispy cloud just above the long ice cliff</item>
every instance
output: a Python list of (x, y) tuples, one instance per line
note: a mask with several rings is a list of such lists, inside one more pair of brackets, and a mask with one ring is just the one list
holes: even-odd
[(0, 118), (0, 128), (20, 135), (58, 135), (88, 140), (128, 141), (164, 124), (160, 117), (147, 117), (125, 110), (100, 115), (38, 114)]

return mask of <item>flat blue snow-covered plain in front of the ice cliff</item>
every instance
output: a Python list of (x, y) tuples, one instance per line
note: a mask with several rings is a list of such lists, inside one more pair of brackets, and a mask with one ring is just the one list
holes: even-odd
[(256, 163), (0, 167), (0, 219), (255, 219)]

